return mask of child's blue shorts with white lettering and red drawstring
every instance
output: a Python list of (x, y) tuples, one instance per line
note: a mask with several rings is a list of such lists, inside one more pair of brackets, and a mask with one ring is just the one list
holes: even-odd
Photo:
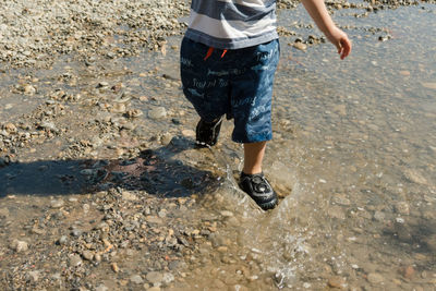
[(210, 54), (209, 47), (185, 37), (180, 54), (183, 93), (202, 119), (213, 121), (223, 114), (233, 118), (232, 140), (237, 143), (272, 138), (278, 39), (243, 49), (214, 49)]

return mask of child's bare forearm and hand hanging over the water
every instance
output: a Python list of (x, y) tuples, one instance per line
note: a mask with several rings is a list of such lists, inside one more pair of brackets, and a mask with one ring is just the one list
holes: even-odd
[(302, 0), (302, 3), (327, 39), (338, 48), (338, 53), (343, 60), (351, 52), (351, 41), (332, 22), (324, 0)]

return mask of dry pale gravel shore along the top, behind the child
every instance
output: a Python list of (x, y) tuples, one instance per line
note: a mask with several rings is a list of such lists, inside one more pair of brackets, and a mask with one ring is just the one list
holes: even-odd
[[(359, 17), (419, 3), (415, 0), (326, 2), (331, 13), (341, 9), (362, 10), (355, 13)], [(279, 9), (293, 9), (298, 4), (296, 0), (277, 2)], [(186, 28), (189, 10), (187, 0), (4, 1), (0, 11), (0, 61), (5, 62), (5, 68), (45, 68), (56, 56), (72, 52), (85, 59), (95, 56), (113, 59), (134, 56), (144, 49), (165, 51), (166, 38), (181, 35)]]

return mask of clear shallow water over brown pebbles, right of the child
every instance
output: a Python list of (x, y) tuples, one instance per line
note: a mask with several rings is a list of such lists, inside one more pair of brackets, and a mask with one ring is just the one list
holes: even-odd
[[(302, 52), (281, 38), (265, 171), (291, 194), (268, 214), (241, 214), (242, 227), (226, 235), (238, 241), (233, 255), (254, 255), (278, 288), (318, 290), (339, 276), (351, 290), (433, 290), (434, 7), (351, 14), (336, 15), (355, 26), (344, 61), (328, 45)], [(366, 32), (374, 26), (380, 33)], [(391, 39), (379, 41), (386, 33)], [(250, 284), (259, 286), (272, 282)]]

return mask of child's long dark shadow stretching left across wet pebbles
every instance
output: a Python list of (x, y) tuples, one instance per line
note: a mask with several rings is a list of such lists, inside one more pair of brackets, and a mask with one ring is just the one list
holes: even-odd
[(109, 189), (146, 191), (161, 197), (204, 194), (218, 186), (209, 171), (174, 158), (193, 147), (174, 137), (167, 146), (146, 149), (131, 159), (41, 160), (13, 162), (0, 169), (0, 198), (7, 195), (68, 195)]

